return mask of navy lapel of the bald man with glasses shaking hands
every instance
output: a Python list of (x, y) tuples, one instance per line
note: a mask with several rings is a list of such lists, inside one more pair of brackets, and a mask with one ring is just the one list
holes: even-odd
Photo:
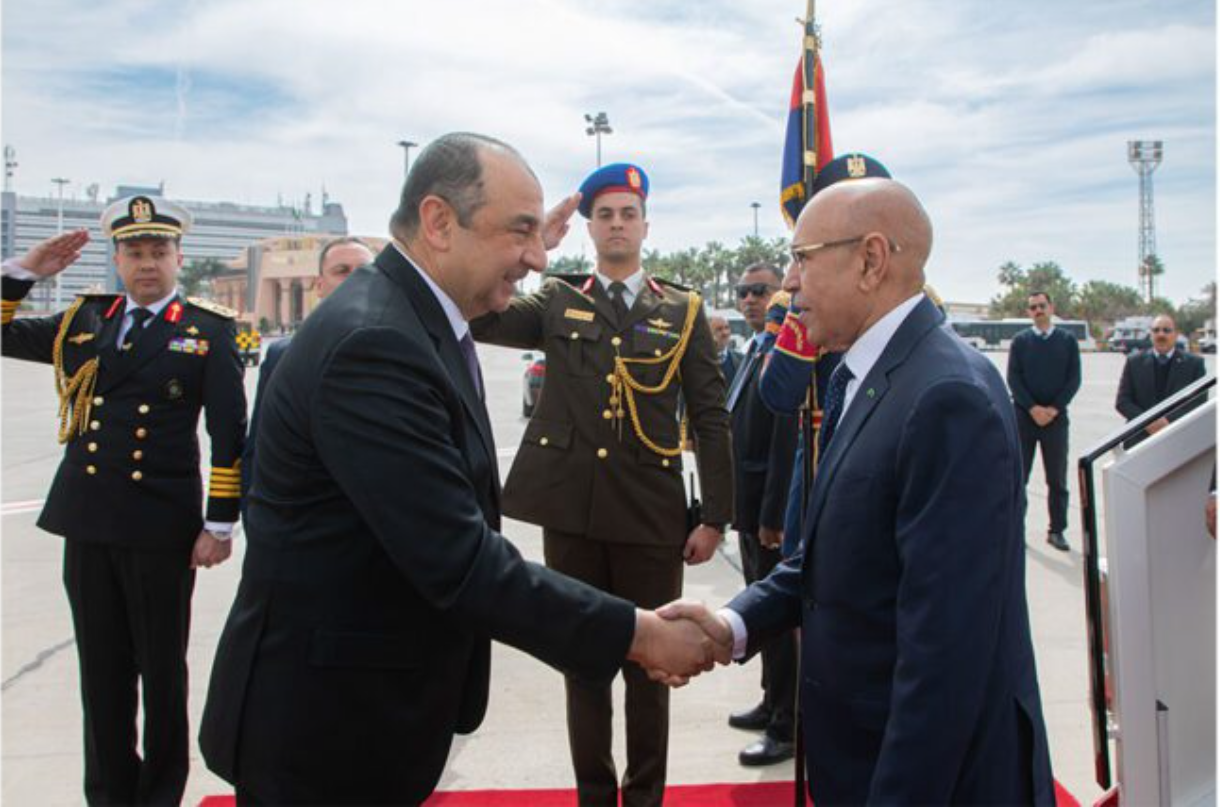
[[(814, 489), (810, 493), (809, 508), (806, 510), (808, 518), (805, 520), (804, 536), (802, 537), (803, 543), (808, 544), (813, 538), (814, 526), (817, 524), (817, 519), (821, 516), (822, 508), (826, 504), (826, 492), (830, 489), (836, 472), (843, 465), (848, 452), (850, 452), (852, 444), (860, 435), (864, 425), (869, 422), (881, 399), (889, 392), (889, 375), (906, 361), (915, 345), (922, 341), (928, 331), (939, 325), (942, 320), (943, 315), (931, 300), (927, 298), (920, 300), (919, 305), (898, 326), (898, 331), (891, 337), (877, 364), (872, 366), (869, 375), (860, 382), (860, 387), (855, 391), (850, 406), (848, 406), (838, 426), (834, 428), (834, 435), (826, 449), (826, 456), (817, 465)], [(808, 546), (805, 550), (805, 557), (809, 558)]]

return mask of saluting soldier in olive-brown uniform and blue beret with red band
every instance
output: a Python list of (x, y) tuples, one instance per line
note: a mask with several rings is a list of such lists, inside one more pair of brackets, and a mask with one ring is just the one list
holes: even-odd
[[(581, 187), (580, 211), (597, 271), (553, 277), (471, 326), (477, 339), (547, 353), (547, 386), (505, 483), (505, 515), (543, 527), (553, 569), (651, 609), (681, 597), (683, 560), (711, 558), (733, 504), (716, 348), (699, 295), (640, 269), (647, 197), (638, 166), (594, 172)], [(687, 421), (698, 447), (700, 524), (688, 524), (682, 482)], [(633, 663), (623, 677), (622, 804), (659, 806), (669, 690)], [(610, 686), (566, 684), (581, 804), (617, 804)]]

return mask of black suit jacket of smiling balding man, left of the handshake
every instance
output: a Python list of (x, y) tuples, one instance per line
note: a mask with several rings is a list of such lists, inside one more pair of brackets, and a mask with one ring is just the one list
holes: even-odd
[(489, 638), (609, 681), (633, 607), (498, 531), (487, 411), (440, 304), (387, 248), (267, 387), (242, 583), (200, 747), (272, 804), (418, 804), (482, 720)]

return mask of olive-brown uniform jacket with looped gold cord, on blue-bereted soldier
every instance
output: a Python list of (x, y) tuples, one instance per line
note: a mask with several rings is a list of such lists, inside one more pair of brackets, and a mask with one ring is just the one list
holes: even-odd
[[(682, 456), (662, 456), (637, 435), (625, 400), (611, 404), (615, 356), (656, 359), (681, 339), (692, 293), (645, 278), (625, 322), (594, 276), (555, 276), (503, 314), (471, 323), (475, 338), (543, 350), (547, 383), (504, 487), (504, 514), (606, 542), (673, 544), (687, 537)], [(631, 364), (647, 387), (670, 363)], [(678, 371), (656, 393), (634, 393), (639, 427), (656, 445), (680, 443), (678, 394), (697, 447), (702, 521), (733, 516), (733, 465), (725, 377), (698, 305)], [(616, 417), (617, 411), (622, 417)]]

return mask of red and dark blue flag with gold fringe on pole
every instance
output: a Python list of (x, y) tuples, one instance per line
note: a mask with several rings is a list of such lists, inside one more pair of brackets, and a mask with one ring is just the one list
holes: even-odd
[[(814, 62), (814, 90), (805, 93), (805, 59)], [(813, 114), (806, 116), (804, 101), (813, 100)], [(809, 122), (806, 123), (806, 118)], [(816, 137), (815, 134), (816, 133)], [(797, 63), (797, 74), (792, 79), (792, 100), (788, 104), (788, 132), (783, 140), (783, 167), (780, 176), (780, 207), (788, 227), (795, 227), (797, 216), (809, 199), (805, 187), (805, 165), (814, 166), (809, 179), (822, 170), (834, 157), (831, 144), (831, 116), (826, 107), (826, 81), (822, 73), (821, 56), (808, 54)]]

